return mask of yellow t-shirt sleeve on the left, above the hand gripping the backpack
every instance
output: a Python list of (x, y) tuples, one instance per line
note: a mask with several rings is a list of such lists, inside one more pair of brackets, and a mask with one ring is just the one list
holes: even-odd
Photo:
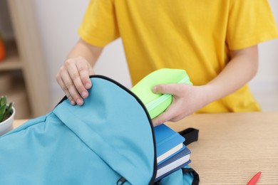
[(83, 41), (99, 47), (118, 38), (119, 31), (113, 0), (91, 0), (78, 34)]

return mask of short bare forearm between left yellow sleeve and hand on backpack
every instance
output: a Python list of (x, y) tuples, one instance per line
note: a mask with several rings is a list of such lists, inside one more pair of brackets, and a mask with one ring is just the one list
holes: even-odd
[(91, 46), (90, 44), (80, 39), (73, 47), (71, 52), (68, 54), (66, 60), (81, 57), (86, 59), (88, 63), (93, 66), (96, 63), (96, 60), (98, 60), (98, 57), (101, 55), (101, 51), (103, 51), (103, 48)]

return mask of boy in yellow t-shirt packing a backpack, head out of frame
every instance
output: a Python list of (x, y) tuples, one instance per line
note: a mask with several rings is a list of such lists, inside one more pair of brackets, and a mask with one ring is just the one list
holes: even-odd
[(257, 72), (257, 44), (278, 37), (266, 0), (91, 0), (80, 41), (56, 79), (72, 105), (88, 97), (103, 47), (121, 37), (133, 85), (158, 68), (182, 68), (193, 85), (162, 84), (173, 103), (153, 125), (193, 112), (259, 111), (246, 85)]

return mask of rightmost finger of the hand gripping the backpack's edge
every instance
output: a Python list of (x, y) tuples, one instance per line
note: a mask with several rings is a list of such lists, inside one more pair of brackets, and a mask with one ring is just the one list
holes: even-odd
[[(91, 88), (90, 75), (93, 75), (93, 70), (88, 63), (77, 63), (76, 67), (79, 71), (81, 81), (86, 89)], [(86, 96), (87, 97), (87, 96)]]

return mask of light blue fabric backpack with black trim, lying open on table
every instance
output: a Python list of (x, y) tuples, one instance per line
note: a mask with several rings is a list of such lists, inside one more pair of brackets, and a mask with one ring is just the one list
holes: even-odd
[(0, 137), (0, 184), (198, 184), (188, 166), (155, 182), (145, 106), (114, 80), (91, 81), (83, 106), (64, 97), (47, 115)]

